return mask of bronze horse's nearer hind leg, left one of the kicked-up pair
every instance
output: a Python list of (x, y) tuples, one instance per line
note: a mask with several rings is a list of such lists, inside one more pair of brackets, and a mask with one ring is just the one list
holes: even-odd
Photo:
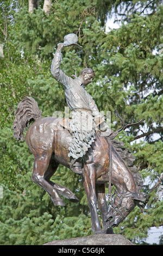
[(55, 190), (44, 177), (50, 159), (51, 154), (48, 153), (41, 156), (35, 156), (32, 181), (48, 192), (54, 205), (65, 205), (57, 190)]

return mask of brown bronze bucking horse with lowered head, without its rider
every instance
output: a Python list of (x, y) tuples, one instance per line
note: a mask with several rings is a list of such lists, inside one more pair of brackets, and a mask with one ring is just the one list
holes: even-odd
[[(37, 102), (26, 96), (18, 105), (13, 125), (17, 141), (23, 141), (23, 131), (28, 127), (25, 140), (34, 155), (32, 181), (48, 192), (54, 205), (65, 205), (60, 195), (71, 202), (78, 202), (76, 195), (68, 188), (50, 180), (59, 164), (70, 168), (68, 147), (72, 139), (71, 133), (66, 129), (66, 125), (63, 125), (61, 118), (42, 118), (41, 113)], [(29, 126), (32, 121), (34, 123)], [(94, 234), (110, 233), (136, 205), (142, 208), (145, 202), (141, 192), (143, 181), (133, 165), (135, 157), (124, 148), (123, 142), (115, 139), (118, 132), (112, 131), (110, 135), (105, 136), (104, 132), (98, 130), (95, 142), (82, 162), (83, 174), (80, 175), (91, 212)], [(105, 196), (105, 186), (108, 182), (109, 204)], [(116, 188), (114, 196), (110, 194), (111, 185)], [(99, 222), (97, 203), (103, 227)]]

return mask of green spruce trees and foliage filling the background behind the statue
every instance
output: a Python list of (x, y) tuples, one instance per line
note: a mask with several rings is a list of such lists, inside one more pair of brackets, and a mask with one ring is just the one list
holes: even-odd
[[(40, 7), (31, 14), (24, 0), (1, 1), (0, 44), (0, 244), (41, 245), (55, 239), (91, 234), (91, 221), (82, 181), (59, 166), (52, 180), (68, 187), (80, 199), (65, 208), (54, 207), (48, 194), (30, 180), (33, 155), (25, 142), (13, 138), (12, 125), (18, 102), (32, 96), (43, 111), (64, 114), (64, 88), (51, 75), (58, 42), (68, 33), (78, 35), (82, 50), (66, 47), (62, 70), (77, 76), (87, 67), (95, 79), (87, 86), (100, 111), (111, 111), (112, 129), (122, 126), (115, 109), (130, 126), (117, 139), (136, 157), (145, 180), (147, 204), (135, 208), (115, 233), (142, 243), (149, 228), (162, 225), (162, 41), (163, 5), (160, 1), (52, 1), (50, 15)], [(105, 32), (107, 16), (121, 17), (120, 28)], [(137, 136), (141, 136), (140, 140)], [(161, 238), (160, 238), (161, 239)], [(161, 240), (160, 240), (161, 243)]]

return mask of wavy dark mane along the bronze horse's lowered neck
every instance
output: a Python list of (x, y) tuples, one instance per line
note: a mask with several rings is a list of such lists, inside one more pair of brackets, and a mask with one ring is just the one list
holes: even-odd
[[(137, 195), (138, 195), (137, 200), (140, 200), (141, 202), (145, 202), (146, 198), (144, 196), (144, 193), (140, 192), (143, 186), (143, 180), (141, 178), (141, 174), (137, 171), (136, 166), (134, 166), (134, 161), (136, 158), (135, 156), (133, 156), (132, 153), (129, 152), (128, 148), (124, 148), (125, 143), (115, 139), (117, 135), (118, 135), (118, 131), (111, 133), (111, 135), (108, 138), (110, 139), (111, 144), (113, 145), (117, 153), (122, 157), (129, 171), (133, 175), (133, 178), (136, 184)], [(139, 203), (138, 205), (142, 206), (140, 204), (141, 203)]]

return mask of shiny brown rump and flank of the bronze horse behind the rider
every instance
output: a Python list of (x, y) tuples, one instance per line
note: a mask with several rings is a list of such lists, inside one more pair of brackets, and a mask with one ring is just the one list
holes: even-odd
[(37, 119), (26, 133), (26, 143), (34, 156), (54, 153), (55, 160), (68, 167), (71, 135), (60, 125), (61, 120), (56, 117)]

